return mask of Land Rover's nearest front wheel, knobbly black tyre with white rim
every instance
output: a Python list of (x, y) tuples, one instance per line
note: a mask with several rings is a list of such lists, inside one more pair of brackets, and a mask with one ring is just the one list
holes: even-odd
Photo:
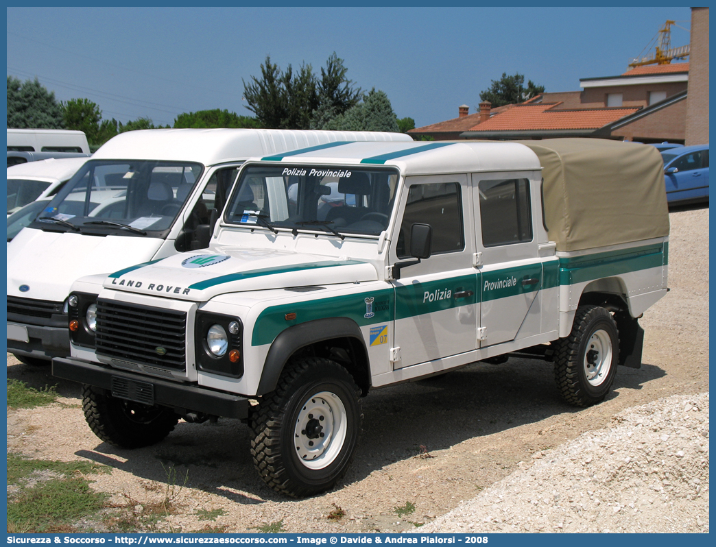
[(251, 455), (271, 488), (294, 498), (329, 490), (358, 445), (363, 413), (349, 372), (323, 358), (296, 359), (253, 407)]

